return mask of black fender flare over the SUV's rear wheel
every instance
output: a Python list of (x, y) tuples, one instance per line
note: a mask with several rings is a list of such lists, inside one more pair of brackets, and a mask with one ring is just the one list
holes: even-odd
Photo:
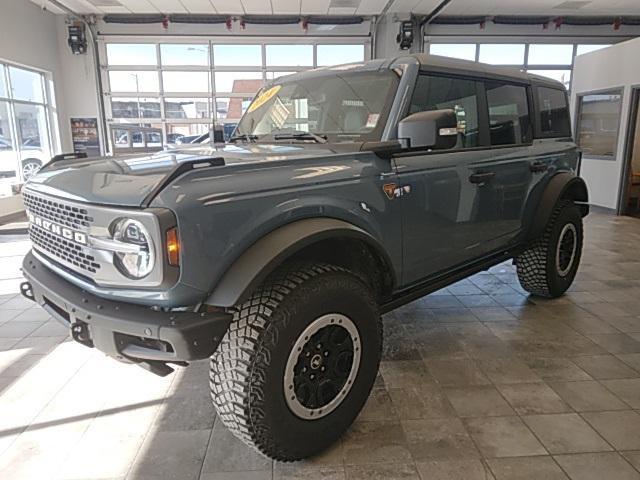
[(551, 213), (559, 200), (573, 200), (580, 206), (582, 216), (589, 214), (589, 192), (587, 184), (570, 172), (559, 172), (547, 183), (536, 206), (529, 238), (537, 238), (544, 233)]

